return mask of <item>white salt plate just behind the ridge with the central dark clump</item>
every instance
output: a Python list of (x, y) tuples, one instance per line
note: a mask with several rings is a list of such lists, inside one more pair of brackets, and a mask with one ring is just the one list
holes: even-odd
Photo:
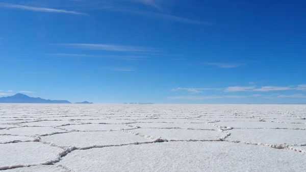
[(212, 130), (186, 130), (186, 129), (149, 129), (141, 128), (126, 131), (136, 135), (167, 140), (220, 140), (227, 137), (224, 132)]

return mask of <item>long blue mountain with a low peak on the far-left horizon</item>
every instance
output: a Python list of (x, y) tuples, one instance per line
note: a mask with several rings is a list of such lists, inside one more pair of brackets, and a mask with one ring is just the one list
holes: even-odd
[(49, 104), (71, 104), (69, 101), (45, 100), (40, 97), (29, 97), (21, 93), (8, 97), (0, 97), (0, 103), (49, 103)]

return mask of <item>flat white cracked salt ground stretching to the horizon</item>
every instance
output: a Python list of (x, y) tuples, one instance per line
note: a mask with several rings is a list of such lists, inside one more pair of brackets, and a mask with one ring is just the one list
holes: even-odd
[(0, 170), (306, 171), (305, 105), (0, 104)]

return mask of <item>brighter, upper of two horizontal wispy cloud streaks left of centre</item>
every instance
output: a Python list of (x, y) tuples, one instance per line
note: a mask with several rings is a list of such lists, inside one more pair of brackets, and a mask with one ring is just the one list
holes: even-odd
[(71, 46), (75, 48), (84, 48), (88, 50), (103, 50), (103, 51), (117, 51), (117, 52), (159, 52), (160, 51), (156, 48), (112, 45), (112, 44), (66, 43), (59, 45)]

